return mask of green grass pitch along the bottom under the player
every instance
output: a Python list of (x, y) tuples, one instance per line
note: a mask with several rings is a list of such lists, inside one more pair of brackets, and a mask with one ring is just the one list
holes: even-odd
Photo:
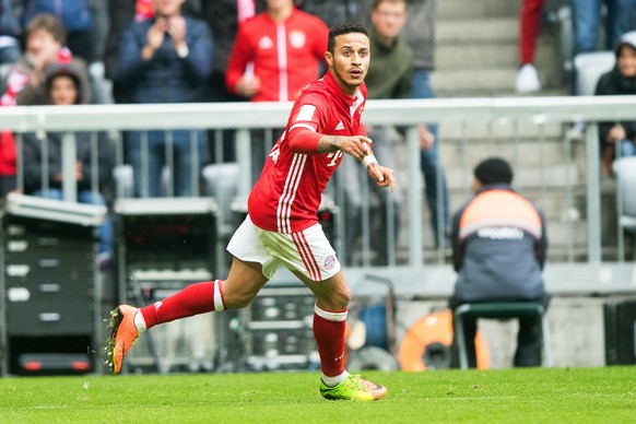
[(0, 378), (0, 423), (634, 423), (636, 367), (365, 372), (389, 393), (323, 400), (319, 374)]

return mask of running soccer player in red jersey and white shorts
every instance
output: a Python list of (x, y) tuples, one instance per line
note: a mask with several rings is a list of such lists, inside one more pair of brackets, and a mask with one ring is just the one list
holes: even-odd
[(314, 335), (326, 399), (376, 400), (380, 385), (344, 369), (344, 327), (350, 288), (335, 251), (318, 223), (322, 190), (344, 154), (362, 162), (380, 187), (394, 190), (393, 170), (381, 166), (361, 123), (366, 102), (364, 78), (370, 47), (364, 25), (345, 22), (329, 33), (328, 71), (296, 99), (283, 136), (272, 148), (248, 199), (248, 215), (227, 250), (233, 255), (227, 280), (191, 284), (155, 304), (120, 305), (110, 313), (107, 341), (110, 370), (139, 333), (162, 322), (209, 311), (243, 308), (282, 266), (316, 295)]

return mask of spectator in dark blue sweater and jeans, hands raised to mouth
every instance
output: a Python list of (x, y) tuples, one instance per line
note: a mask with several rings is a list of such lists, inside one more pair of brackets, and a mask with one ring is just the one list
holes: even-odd
[[(116, 82), (130, 93), (130, 102), (205, 99), (203, 93), (212, 70), (212, 35), (203, 21), (181, 14), (182, 3), (184, 0), (153, 0), (154, 16), (134, 22), (122, 35)], [(170, 168), (174, 182), (167, 188), (167, 196), (197, 196), (193, 188), (205, 160), (203, 131), (156, 130), (146, 134), (148, 140), (144, 133), (131, 131), (125, 140), (137, 196), (161, 196), (165, 166)], [(172, 150), (170, 155), (166, 149)]]

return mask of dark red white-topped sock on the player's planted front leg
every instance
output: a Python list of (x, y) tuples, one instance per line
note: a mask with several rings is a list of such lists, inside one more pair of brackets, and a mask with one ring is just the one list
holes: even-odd
[(322, 374), (335, 377), (344, 373), (344, 329), (346, 308), (334, 311), (314, 308), (314, 337), (318, 344)]

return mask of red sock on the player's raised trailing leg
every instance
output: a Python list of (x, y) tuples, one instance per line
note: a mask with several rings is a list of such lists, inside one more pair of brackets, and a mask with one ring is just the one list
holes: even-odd
[(145, 328), (213, 310), (224, 310), (221, 280), (190, 284), (163, 301), (140, 309)]

